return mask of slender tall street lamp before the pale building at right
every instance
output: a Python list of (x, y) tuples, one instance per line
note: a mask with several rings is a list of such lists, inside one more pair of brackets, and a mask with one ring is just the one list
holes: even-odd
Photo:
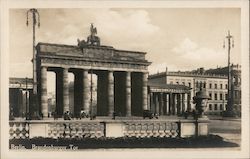
[[(226, 111), (228, 115), (233, 115), (233, 96), (232, 96), (232, 76), (231, 76), (231, 66), (230, 66), (230, 51), (231, 48), (234, 48), (234, 39), (233, 36), (230, 35), (230, 31), (228, 31), (228, 35), (226, 36), (228, 41), (228, 84), (227, 84), (227, 107)], [(225, 48), (225, 40), (223, 44), (223, 48)]]

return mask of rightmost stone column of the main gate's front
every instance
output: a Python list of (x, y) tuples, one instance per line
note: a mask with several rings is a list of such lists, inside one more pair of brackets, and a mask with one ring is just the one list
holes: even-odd
[(142, 110), (147, 110), (147, 98), (148, 98), (148, 74), (142, 73)]

